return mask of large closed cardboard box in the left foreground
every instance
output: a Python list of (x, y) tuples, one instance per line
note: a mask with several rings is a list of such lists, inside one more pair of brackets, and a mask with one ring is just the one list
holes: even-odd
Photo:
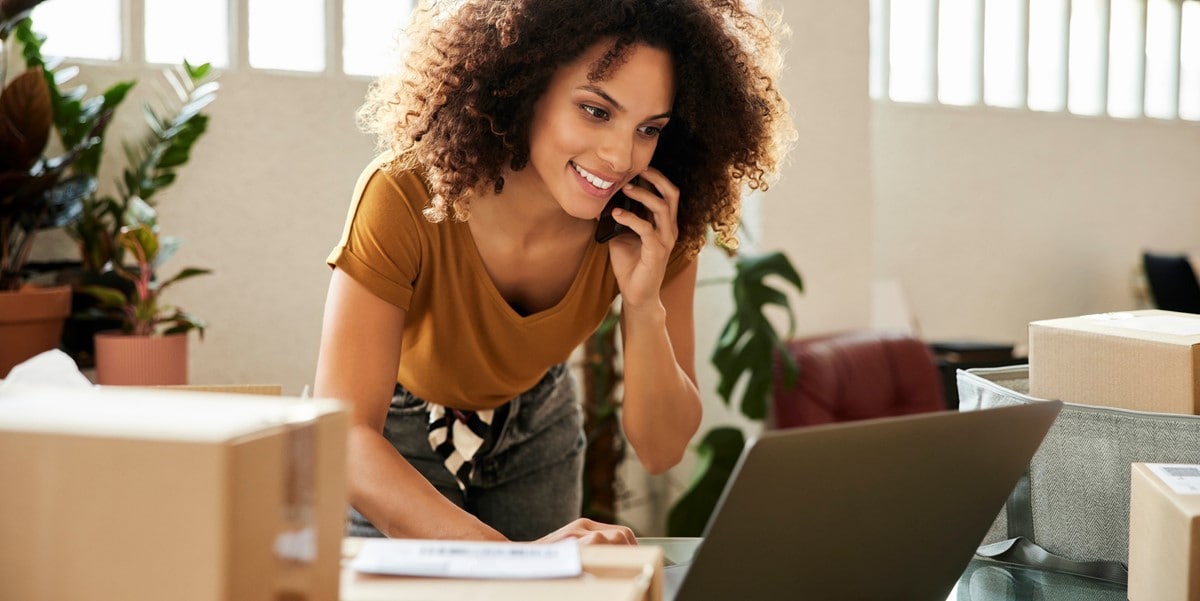
[(332, 401), (0, 390), (0, 599), (335, 600)]

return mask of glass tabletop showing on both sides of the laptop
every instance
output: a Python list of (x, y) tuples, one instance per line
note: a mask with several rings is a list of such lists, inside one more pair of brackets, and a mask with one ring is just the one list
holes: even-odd
[[(691, 559), (700, 539), (638, 539), (662, 547), (667, 565)], [(1126, 601), (1126, 588), (990, 559), (972, 559), (947, 601)]]

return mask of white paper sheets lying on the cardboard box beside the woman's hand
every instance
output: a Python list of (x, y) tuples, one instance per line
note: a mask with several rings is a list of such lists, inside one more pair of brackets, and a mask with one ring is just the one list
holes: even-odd
[(365, 573), (437, 578), (570, 578), (583, 572), (575, 540), (530, 545), (371, 539), (350, 565)]

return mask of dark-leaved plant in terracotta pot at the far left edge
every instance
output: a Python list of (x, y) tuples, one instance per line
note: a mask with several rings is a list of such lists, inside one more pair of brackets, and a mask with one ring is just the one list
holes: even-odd
[(95, 190), (95, 178), (71, 167), (96, 146), (112, 114), (100, 103), (76, 115), (80, 134), (46, 156), (54, 131), (52, 76), (40, 66), (11, 80), (7, 73), (10, 40), (20, 36), (37, 4), (0, 1), (0, 378), (58, 347), (71, 289), (32, 286), (29, 256), (36, 234), (70, 223)]

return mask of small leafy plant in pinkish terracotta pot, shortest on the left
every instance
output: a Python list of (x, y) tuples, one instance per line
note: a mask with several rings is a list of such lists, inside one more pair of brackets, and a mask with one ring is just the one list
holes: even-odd
[[(154, 223), (121, 228), (116, 244), (133, 258), (133, 265), (113, 265), (113, 271), (132, 284), (131, 289), (86, 286), (85, 294), (97, 300), (89, 317), (115, 318), (121, 330), (96, 333), (97, 384), (167, 385), (187, 384), (187, 332), (204, 337), (203, 319), (162, 302), (168, 287), (191, 277), (210, 274), (186, 268), (160, 280), (157, 269), (174, 254), (179, 239), (158, 236)], [(131, 290), (131, 292), (130, 292)]]

